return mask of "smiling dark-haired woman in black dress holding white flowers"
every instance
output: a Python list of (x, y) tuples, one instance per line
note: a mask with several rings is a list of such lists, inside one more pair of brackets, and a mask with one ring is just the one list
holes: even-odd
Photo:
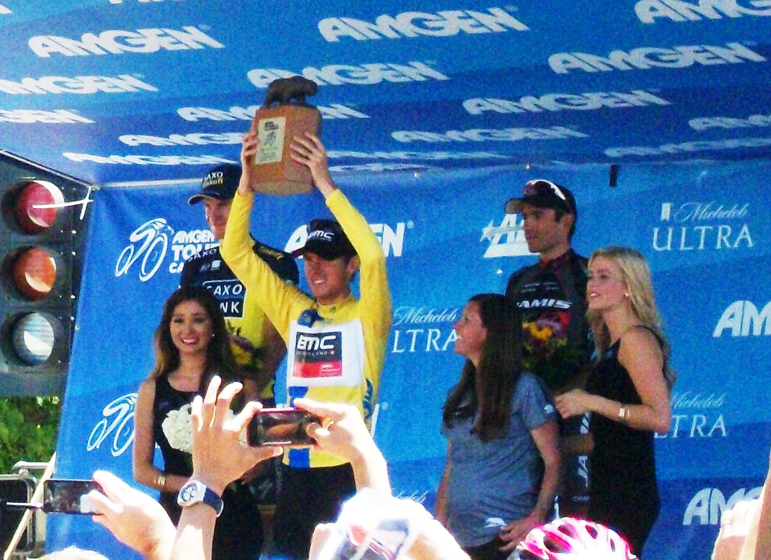
[[(134, 416), (134, 479), (160, 491), (160, 504), (176, 524), (177, 493), (193, 473), (190, 403), (204, 394), (215, 374), (241, 381), (225, 320), (214, 296), (203, 287), (182, 287), (163, 305), (155, 331), (155, 365), (143, 381)], [(163, 470), (153, 465), (155, 445)], [(215, 560), (254, 560), (262, 548), (257, 503), (246, 485), (225, 489), (224, 509), (214, 529)]]

